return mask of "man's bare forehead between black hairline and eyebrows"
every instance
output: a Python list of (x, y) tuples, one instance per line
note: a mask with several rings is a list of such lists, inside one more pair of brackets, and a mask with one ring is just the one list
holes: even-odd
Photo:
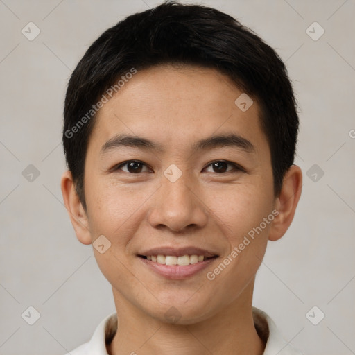
[[(98, 112), (89, 146), (101, 150), (123, 132), (182, 149), (203, 137), (236, 133), (268, 148), (257, 102), (245, 95), (214, 69), (165, 65), (138, 71)], [(241, 110), (239, 98), (252, 103), (248, 110)]]

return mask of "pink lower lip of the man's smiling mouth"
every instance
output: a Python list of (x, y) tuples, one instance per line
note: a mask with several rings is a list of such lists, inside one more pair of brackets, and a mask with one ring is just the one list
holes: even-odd
[(196, 275), (201, 270), (207, 268), (213, 261), (217, 258), (207, 259), (205, 261), (199, 261), (198, 263), (191, 263), (190, 265), (180, 266), (180, 265), (165, 265), (162, 263), (157, 263), (155, 261), (150, 261), (138, 257), (143, 263), (146, 264), (151, 270), (157, 272), (157, 274), (166, 277), (166, 279), (186, 279)]

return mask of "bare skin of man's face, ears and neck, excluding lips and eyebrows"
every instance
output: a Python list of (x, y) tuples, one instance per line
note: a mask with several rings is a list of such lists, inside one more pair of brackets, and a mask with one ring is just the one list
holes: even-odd
[[(98, 112), (85, 161), (83, 208), (71, 173), (62, 176), (65, 206), (83, 244), (104, 235), (112, 243), (94, 254), (112, 284), (119, 326), (111, 355), (263, 354), (254, 328), (252, 292), (267, 241), (281, 238), (293, 220), (302, 173), (291, 166), (275, 197), (270, 148), (259, 122), (257, 101), (242, 112), (242, 92), (214, 69), (159, 66), (138, 71)], [(234, 133), (254, 146), (191, 150), (199, 139)], [(101, 154), (114, 135), (150, 139), (164, 151), (120, 146)], [(139, 160), (140, 173), (128, 166)], [(218, 172), (211, 163), (227, 161)], [(182, 176), (171, 182), (171, 164)], [(207, 279), (253, 227), (279, 214), (213, 281)], [(214, 250), (218, 258), (186, 279), (170, 280), (141, 262), (137, 253), (161, 245)], [(174, 306), (180, 319), (164, 316)], [(132, 353), (132, 354), (135, 354)]]

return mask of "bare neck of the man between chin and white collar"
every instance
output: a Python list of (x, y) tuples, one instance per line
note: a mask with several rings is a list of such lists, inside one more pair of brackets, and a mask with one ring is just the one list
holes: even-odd
[(194, 324), (169, 324), (152, 318), (114, 291), (118, 327), (110, 355), (261, 355), (265, 343), (252, 318), (252, 288), (218, 313)]

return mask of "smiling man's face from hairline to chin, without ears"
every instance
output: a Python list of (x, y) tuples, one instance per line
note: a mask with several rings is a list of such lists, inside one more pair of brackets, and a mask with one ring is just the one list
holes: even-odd
[(87, 221), (111, 243), (94, 252), (115, 300), (162, 320), (173, 306), (189, 324), (252, 289), (275, 198), (259, 107), (242, 111), (241, 94), (213, 69), (155, 67), (98, 112)]

